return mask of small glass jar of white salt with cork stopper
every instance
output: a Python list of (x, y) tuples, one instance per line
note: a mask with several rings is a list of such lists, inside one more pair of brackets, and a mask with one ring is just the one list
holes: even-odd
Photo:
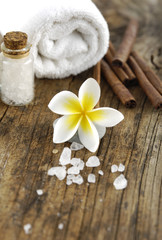
[(1, 99), (13, 106), (30, 103), (34, 98), (33, 56), (27, 34), (9, 32), (1, 45)]

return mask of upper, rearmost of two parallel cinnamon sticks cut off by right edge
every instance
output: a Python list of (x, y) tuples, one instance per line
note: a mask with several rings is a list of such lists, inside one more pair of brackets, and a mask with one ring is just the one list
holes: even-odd
[(147, 65), (144, 59), (137, 54), (137, 52), (133, 51), (131, 54), (135, 58), (136, 62), (138, 63), (148, 80), (152, 83), (156, 90), (160, 94), (162, 94), (162, 82), (160, 78), (152, 71), (152, 69)]

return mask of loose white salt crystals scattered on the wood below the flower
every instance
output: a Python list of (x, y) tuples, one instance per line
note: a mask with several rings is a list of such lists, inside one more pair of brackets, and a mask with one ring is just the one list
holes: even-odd
[[(48, 175), (49, 176), (56, 176), (59, 180), (63, 180), (66, 177), (66, 184), (71, 185), (72, 183), (76, 183), (78, 185), (82, 184), (84, 182), (83, 177), (79, 174), (81, 170), (84, 169), (84, 162), (80, 158), (72, 158), (71, 159), (71, 150), (77, 151), (82, 149), (84, 146), (80, 143), (73, 142), (70, 146), (70, 148), (65, 147), (61, 153), (60, 159), (59, 159), (59, 164), (62, 166), (57, 166), (57, 167), (52, 167), (48, 170)], [(54, 151), (55, 150), (55, 151)], [(54, 149), (53, 153), (57, 153), (58, 150)], [(71, 164), (72, 167), (68, 168), (66, 171), (66, 166)], [(100, 165), (99, 158), (97, 156), (91, 156), (88, 158), (86, 162), (87, 167), (98, 167)], [(120, 163), (119, 167), (117, 165), (112, 165), (111, 166), (111, 172), (123, 172), (125, 170), (125, 166)], [(104, 175), (102, 170), (98, 171), (98, 174), (101, 176)], [(88, 175), (88, 183), (95, 183), (96, 182), (96, 176), (92, 173)], [(118, 176), (114, 182), (113, 182), (114, 187), (119, 190), (119, 189), (124, 189), (127, 187), (127, 180), (124, 177), (123, 174)], [(38, 189), (36, 190), (38, 195), (43, 194), (43, 190)], [(28, 228), (30, 226), (27, 225), (26, 228), (24, 226), (24, 231), (28, 231)], [(59, 229), (63, 229), (63, 224), (60, 223), (58, 226)], [(26, 230), (25, 230), (26, 229)]]

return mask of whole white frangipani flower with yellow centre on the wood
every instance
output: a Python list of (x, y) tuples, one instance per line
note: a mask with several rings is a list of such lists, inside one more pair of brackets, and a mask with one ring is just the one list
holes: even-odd
[(70, 91), (57, 93), (48, 107), (64, 115), (54, 127), (54, 143), (68, 141), (78, 131), (81, 143), (91, 152), (99, 146), (99, 134), (95, 125), (113, 127), (124, 119), (121, 112), (108, 107), (95, 108), (100, 98), (100, 86), (93, 78), (80, 87), (78, 97)]

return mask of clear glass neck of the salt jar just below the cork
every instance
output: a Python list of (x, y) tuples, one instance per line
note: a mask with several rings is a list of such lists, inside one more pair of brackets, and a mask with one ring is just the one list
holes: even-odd
[(29, 43), (26, 45), (25, 48), (16, 49), (16, 50), (6, 48), (4, 43), (1, 44), (1, 50), (4, 56), (8, 58), (14, 58), (14, 59), (27, 57), (29, 55), (30, 48), (31, 48), (31, 44)]

